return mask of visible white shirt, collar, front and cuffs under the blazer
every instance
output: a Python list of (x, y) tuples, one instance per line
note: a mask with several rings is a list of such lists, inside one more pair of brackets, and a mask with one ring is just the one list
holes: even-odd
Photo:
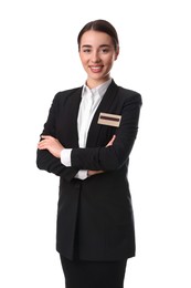
[[(87, 134), (93, 120), (93, 116), (112, 82), (112, 79), (106, 81), (104, 84), (97, 88), (89, 89), (86, 84), (83, 86), (82, 101), (79, 105), (78, 116), (77, 116), (77, 131), (78, 131), (78, 146), (81, 148), (86, 147)], [(72, 148), (64, 148), (61, 152), (61, 163), (64, 166), (71, 166), (71, 152)], [(85, 179), (87, 178), (87, 171), (81, 169), (75, 175), (76, 178)]]

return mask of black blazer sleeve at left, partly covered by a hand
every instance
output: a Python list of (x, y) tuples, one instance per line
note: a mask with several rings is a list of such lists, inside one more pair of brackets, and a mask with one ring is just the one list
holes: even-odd
[[(56, 112), (57, 112), (57, 97), (59, 93), (55, 95), (50, 112), (47, 121), (44, 124), (44, 128), (41, 135), (51, 135), (56, 137)], [(76, 173), (78, 172), (75, 167), (66, 167), (61, 163), (60, 158), (53, 156), (47, 150), (36, 151), (36, 166), (40, 169), (44, 169), (49, 173), (53, 173), (57, 176), (63, 177), (66, 181), (72, 181)]]

